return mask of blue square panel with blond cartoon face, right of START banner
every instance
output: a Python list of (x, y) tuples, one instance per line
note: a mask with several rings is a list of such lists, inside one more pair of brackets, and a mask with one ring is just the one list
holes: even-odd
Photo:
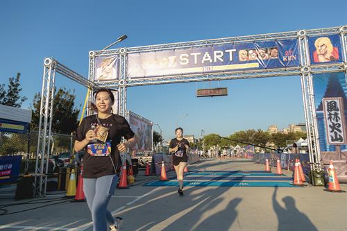
[(339, 35), (309, 37), (308, 41), (312, 65), (322, 62), (342, 62)]

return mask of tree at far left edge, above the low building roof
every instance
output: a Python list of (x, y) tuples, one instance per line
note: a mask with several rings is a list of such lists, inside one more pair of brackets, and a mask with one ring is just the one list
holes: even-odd
[(7, 90), (5, 84), (0, 85), (0, 104), (20, 108), (22, 103), (28, 99), (26, 96), (20, 96), (20, 92), (22, 92), (22, 87), (19, 83), (20, 76), (21, 74), (17, 73), (16, 78), (8, 78)]

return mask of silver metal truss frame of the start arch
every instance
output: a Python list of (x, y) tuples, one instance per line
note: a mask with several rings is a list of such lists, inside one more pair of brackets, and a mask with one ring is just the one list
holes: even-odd
[[(341, 35), (341, 46), (343, 63), (332, 65), (311, 65), (308, 49), (308, 37), (319, 35), (337, 34)], [(176, 76), (160, 76), (156, 78), (128, 78), (127, 63), (128, 53), (164, 51), (169, 49), (186, 49), (194, 47), (212, 46), (218, 44), (237, 44), (244, 42), (262, 42), (269, 40), (298, 39), (300, 52), (300, 67), (282, 68), (282, 69), (260, 69), (260, 70), (242, 70), (225, 71), (218, 74), (185, 74)], [(37, 142), (37, 155), (35, 164), (35, 194), (42, 196), (46, 192), (46, 180), (48, 172), (48, 158), (50, 152), (51, 121), (53, 108), (53, 95), (56, 72), (66, 76), (76, 83), (79, 83), (91, 90), (88, 101), (92, 102), (92, 93), (99, 87), (117, 88), (119, 92), (119, 114), (126, 117), (127, 88), (142, 85), (161, 85), (170, 83), (189, 83), (212, 80), (232, 80), (241, 78), (265, 78), (276, 76), (301, 76), (301, 89), (303, 94), (303, 106), (305, 114), (305, 123), (307, 128), (307, 138), (309, 143), (310, 162), (320, 163), (319, 133), (316, 124), (316, 106), (314, 105), (314, 88), (312, 83), (312, 74), (346, 72), (347, 71), (347, 26), (332, 28), (321, 28), (312, 30), (291, 31), (283, 33), (269, 33), (264, 35), (248, 35), (240, 37), (226, 37), (214, 40), (198, 40), (192, 42), (177, 42), (171, 44), (159, 44), (153, 46), (137, 46), (130, 48), (120, 48), (102, 51), (90, 51), (88, 79), (80, 74), (65, 67), (53, 58), (44, 60), (44, 74), (42, 80), (42, 94), (40, 105), (40, 124), (39, 138)], [(95, 76), (95, 58), (104, 55), (119, 55), (119, 78), (108, 82), (96, 82)], [(87, 109), (87, 114), (92, 112)], [(315, 166), (312, 165), (314, 168)]]

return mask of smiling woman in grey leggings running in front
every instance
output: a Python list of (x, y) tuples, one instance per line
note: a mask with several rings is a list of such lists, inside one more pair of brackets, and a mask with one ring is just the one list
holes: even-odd
[[(84, 150), (83, 191), (92, 213), (93, 230), (118, 230), (119, 225), (107, 209), (111, 196), (115, 193), (119, 179), (121, 157), (136, 143), (134, 132), (124, 117), (112, 114), (115, 97), (110, 89), (99, 89), (94, 93), (97, 111), (85, 117), (76, 131), (76, 152)], [(121, 137), (127, 142), (121, 143)]]

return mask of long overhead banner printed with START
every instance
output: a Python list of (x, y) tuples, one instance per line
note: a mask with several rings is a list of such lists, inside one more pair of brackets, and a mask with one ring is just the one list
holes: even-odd
[(298, 41), (208, 45), (128, 54), (128, 78), (209, 74), (300, 65)]

